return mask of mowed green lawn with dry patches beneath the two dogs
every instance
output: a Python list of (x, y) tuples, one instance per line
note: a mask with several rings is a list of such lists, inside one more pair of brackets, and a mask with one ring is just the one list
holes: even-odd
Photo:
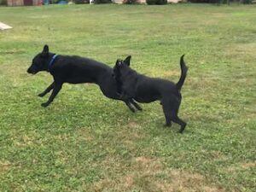
[[(256, 6), (72, 5), (0, 8), (0, 191), (255, 191)], [(48, 73), (26, 73), (44, 44), (177, 82), (179, 116), (159, 102), (131, 113), (96, 84), (65, 84), (49, 108)]]

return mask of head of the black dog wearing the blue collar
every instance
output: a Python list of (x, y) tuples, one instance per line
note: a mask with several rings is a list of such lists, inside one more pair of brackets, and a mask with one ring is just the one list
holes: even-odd
[(27, 69), (27, 73), (36, 74), (41, 71), (47, 71), (50, 60), (49, 55), (51, 55), (49, 47), (45, 44), (43, 51), (33, 58), (32, 65)]

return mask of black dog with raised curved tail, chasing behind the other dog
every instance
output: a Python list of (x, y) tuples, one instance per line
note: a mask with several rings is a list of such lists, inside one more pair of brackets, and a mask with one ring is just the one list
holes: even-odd
[(188, 67), (180, 58), (181, 77), (177, 84), (165, 79), (148, 78), (132, 70), (130, 66), (131, 56), (125, 61), (116, 61), (113, 67), (113, 76), (118, 83), (118, 90), (125, 100), (135, 99), (137, 102), (154, 102), (160, 100), (166, 116), (166, 125), (170, 126), (171, 121), (181, 125), (180, 133), (186, 127), (186, 123), (177, 117), (182, 96), (180, 90), (187, 75)]

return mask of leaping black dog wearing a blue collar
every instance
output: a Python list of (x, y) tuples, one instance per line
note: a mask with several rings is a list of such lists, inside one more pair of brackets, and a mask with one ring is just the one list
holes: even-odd
[(135, 112), (132, 105), (138, 110), (142, 110), (134, 100), (120, 98), (117, 94), (117, 83), (112, 76), (112, 68), (101, 62), (79, 56), (55, 55), (49, 52), (47, 45), (44, 45), (43, 52), (33, 58), (31, 67), (27, 69), (27, 73), (32, 74), (40, 71), (49, 72), (54, 78), (54, 82), (38, 95), (45, 96), (50, 90), (53, 90), (48, 102), (42, 103), (43, 107), (47, 107), (53, 102), (64, 83), (95, 83), (100, 86), (105, 96), (124, 101), (132, 112)]

